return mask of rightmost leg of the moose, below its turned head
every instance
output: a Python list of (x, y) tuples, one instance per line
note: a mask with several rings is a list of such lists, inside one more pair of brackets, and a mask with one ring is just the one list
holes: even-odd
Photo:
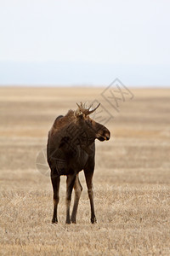
[(97, 222), (97, 219), (95, 217), (95, 213), (94, 213), (94, 188), (93, 188), (93, 175), (94, 172), (86, 172), (84, 170), (84, 174), (86, 177), (86, 183), (87, 183), (87, 187), (88, 187), (88, 197), (90, 200), (90, 207), (91, 207), (91, 223), (94, 224), (95, 222)]

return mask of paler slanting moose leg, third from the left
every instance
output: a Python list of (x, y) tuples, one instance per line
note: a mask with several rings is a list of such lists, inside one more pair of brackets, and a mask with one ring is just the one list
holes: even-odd
[(72, 223), (77, 223), (77, 208), (78, 208), (78, 202), (82, 193), (82, 185), (80, 183), (78, 174), (74, 183), (74, 189), (75, 189), (75, 199), (74, 199), (74, 206), (72, 209), (72, 214), (71, 214), (71, 222)]

